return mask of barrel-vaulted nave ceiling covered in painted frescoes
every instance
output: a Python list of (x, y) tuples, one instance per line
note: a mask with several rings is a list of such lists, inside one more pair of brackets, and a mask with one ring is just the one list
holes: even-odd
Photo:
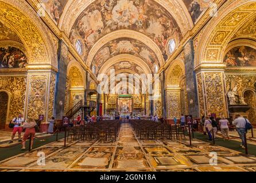
[[(68, 35), (95, 75), (130, 67), (136, 73), (156, 73), (183, 36), (210, 6), (200, 0), (49, 0), (42, 1), (53, 21)], [(79, 41), (77, 43), (77, 41)], [(118, 55), (133, 56), (137, 63)], [(141, 62), (141, 63), (140, 63)], [(143, 63), (142, 63), (143, 62)], [(145, 66), (148, 65), (146, 70)], [(104, 69), (103, 69), (104, 70)]]

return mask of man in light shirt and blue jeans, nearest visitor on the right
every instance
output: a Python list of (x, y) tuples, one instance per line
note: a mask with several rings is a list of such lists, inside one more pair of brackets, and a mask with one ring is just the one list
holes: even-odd
[(247, 133), (246, 122), (250, 123), (250, 121), (242, 117), (240, 114), (236, 114), (235, 117), (236, 119), (232, 122), (232, 124), (236, 126), (236, 130), (242, 140), (242, 144), (240, 146), (245, 149), (245, 134)]

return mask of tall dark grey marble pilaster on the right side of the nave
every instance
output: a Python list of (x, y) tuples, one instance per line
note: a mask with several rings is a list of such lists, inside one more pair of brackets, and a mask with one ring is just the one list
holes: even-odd
[(193, 42), (188, 41), (184, 46), (186, 89), (188, 98), (188, 114), (199, 117), (196, 75), (194, 72)]

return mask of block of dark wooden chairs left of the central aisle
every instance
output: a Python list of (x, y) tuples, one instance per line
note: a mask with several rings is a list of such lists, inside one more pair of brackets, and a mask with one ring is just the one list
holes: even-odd
[(106, 120), (67, 128), (67, 140), (116, 141), (120, 130), (119, 120)]

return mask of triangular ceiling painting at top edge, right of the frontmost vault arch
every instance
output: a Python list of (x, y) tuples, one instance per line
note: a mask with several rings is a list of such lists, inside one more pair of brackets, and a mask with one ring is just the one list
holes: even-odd
[(205, 0), (183, 0), (183, 2), (187, 6), (193, 23), (196, 23), (200, 15), (210, 7), (210, 1)]

